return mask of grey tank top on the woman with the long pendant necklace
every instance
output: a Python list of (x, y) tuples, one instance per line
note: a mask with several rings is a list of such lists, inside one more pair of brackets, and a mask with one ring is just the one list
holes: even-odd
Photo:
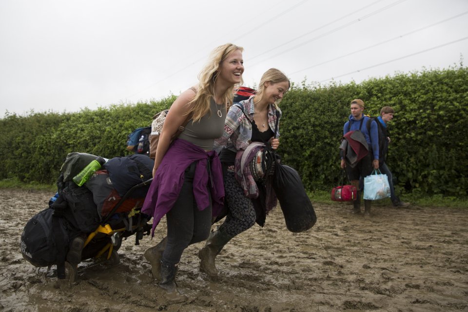
[[(221, 117), (217, 114), (218, 109), (221, 111)], [(212, 98), (210, 100), (210, 110), (211, 113), (208, 112), (199, 121), (193, 122), (193, 119), (190, 119), (179, 138), (189, 141), (205, 151), (211, 151), (215, 138), (221, 137), (224, 133), (226, 104), (219, 107), (219, 104), (216, 105), (215, 100)]]

